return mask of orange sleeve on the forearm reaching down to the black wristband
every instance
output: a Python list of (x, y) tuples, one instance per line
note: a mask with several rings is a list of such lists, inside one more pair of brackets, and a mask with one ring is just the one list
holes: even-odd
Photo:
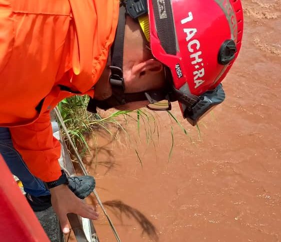
[(52, 135), (49, 112), (41, 114), (32, 124), (10, 128), (10, 133), (14, 148), (34, 176), (44, 182), (58, 179), (60, 143)]

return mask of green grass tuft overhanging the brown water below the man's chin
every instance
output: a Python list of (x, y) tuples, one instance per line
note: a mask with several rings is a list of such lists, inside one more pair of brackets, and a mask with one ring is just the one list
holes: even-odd
[[(145, 140), (147, 146), (152, 143), (152, 145), (156, 149), (155, 141), (159, 141), (159, 122), (156, 119), (157, 116), (154, 115), (154, 113), (151, 113), (146, 109), (138, 109), (135, 111), (115, 111), (108, 114), (108, 116), (106, 117), (101, 117), (99, 114), (92, 114), (86, 111), (88, 99), (89, 98), (87, 96), (72, 96), (70, 98), (62, 100), (58, 104), (58, 109), (64, 120), (65, 126), (68, 129), (71, 140), (73, 141), (76, 149), (79, 151), (82, 157), (86, 154), (90, 154), (91, 156), (95, 157), (95, 161), (97, 162), (96, 156), (99, 148), (95, 136), (96, 130), (105, 131), (111, 137), (111, 139), (115, 141), (119, 139), (119, 133), (122, 132), (126, 135), (130, 143), (130, 135), (126, 130), (126, 126), (128, 123), (131, 124), (131, 121), (136, 123), (139, 142), (141, 143), (142, 140)], [(170, 111), (167, 111), (167, 113), (170, 119), (174, 120), (183, 131), (183, 133), (188, 136), (186, 129), (181, 125), (177, 118)], [(114, 130), (113, 132), (112, 127)], [(144, 132), (140, 132), (141, 129)], [(198, 126), (197, 130), (200, 135)], [(141, 133), (144, 133), (145, 137), (141, 137)], [(174, 135), (172, 127), (170, 135), (171, 147), (168, 154), (168, 161), (171, 158), (172, 150), (174, 147)], [(191, 140), (190, 137), (189, 139)], [(92, 140), (95, 145), (93, 153), (87, 144), (88, 140)], [(70, 153), (73, 153), (70, 148), (69, 151)], [(137, 149), (135, 149), (135, 153), (137, 156), (137, 160), (142, 167), (142, 161)]]

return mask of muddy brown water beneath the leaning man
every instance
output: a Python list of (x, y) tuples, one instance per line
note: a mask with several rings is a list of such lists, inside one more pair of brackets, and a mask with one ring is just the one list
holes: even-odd
[[(200, 138), (166, 113), (154, 145), (142, 124), (139, 141), (132, 121), (122, 144), (97, 138), (87, 168), (122, 242), (281, 240), (281, 2), (242, 3), (242, 50), (223, 81), (226, 100), (199, 124)], [(172, 113), (181, 120), (176, 104)], [(102, 215), (94, 224), (101, 242), (115, 241)]]

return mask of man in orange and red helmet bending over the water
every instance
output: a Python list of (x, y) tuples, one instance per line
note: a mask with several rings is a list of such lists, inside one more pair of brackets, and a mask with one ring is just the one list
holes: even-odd
[(98, 215), (66, 185), (49, 112), (72, 95), (92, 112), (178, 101), (195, 125), (224, 100), (242, 30), (240, 0), (0, 0), (0, 140), (46, 184), (63, 232), (67, 213)]

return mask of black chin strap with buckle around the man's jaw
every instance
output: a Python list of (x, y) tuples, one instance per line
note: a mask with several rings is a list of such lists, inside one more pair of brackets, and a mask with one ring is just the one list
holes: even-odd
[[(133, 19), (139, 20), (140, 24), (143, 24), (142, 29), (148, 28), (148, 22), (145, 19), (139, 19), (140, 16), (147, 14), (146, 0), (126, 0), (125, 3), (120, 3), (118, 25), (116, 29), (116, 35), (114, 42), (111, 46), (111, 62), (109, 76), (109, 83), (112, 88), (112, 95), (105, 100), (89, 100), (87, 110), (92, 113), (96, 113), (96, 108), (103, 110), (114, 108), (120, 105), (124, 105), (130, 102), (148, 101), (149, 103), (159, 102), (161, 100), (180, 101), (190, 109), (197, 101), (198, 97), (190, 94), (187, 95), (180, 90), (175, 89), (172, 83), (172, 78), (166, 80), (166, 86), (161, 89), (155, 89), (144, 92), (125, 93), (125, 85), (123, 78), (123, 47), (124, 47), (124, 33), (125, 33), (125, 21), (126, 14)], [(148, 30), (146, 29), (146, 33)], [(146, 34), (147, 35), (147, 34)], [(148, 35), (146, 36), (146, 38)], [(171, 82), (170, 82), (171, 81)]]

